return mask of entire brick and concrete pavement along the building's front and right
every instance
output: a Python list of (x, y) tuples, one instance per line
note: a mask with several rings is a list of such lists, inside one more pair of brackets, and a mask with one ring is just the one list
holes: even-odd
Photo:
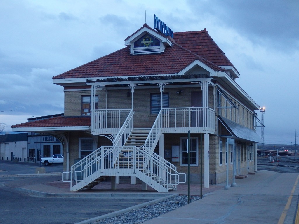
[[(16, 180), (6, 185), (42, 197), (165, 197), (164, 193), (157, 193), (150, 187), (148, 191), (141, 191), (141, 184), (131, 185), (129, 178), (121, 179), (117, 190), (110, 190), (111, 185), (107, 181), (88, 191), (71, 192), (70, 183), (62, 182), (61, 176), (44, 175), (44, 178), (37, 178), (39, 182), (24, 182), (23, 179), (19, 183)], [(236, 179), (236, 186), (229, 189), (224, 188), (225, 184), (210, 185), (209, 188), (202, 188), (203, 199), (144, 224), (294, 223), (299, 193), (298, 178), (298, 173), (258, 171), (247, 178)], [(177, 191), (167, 194), (187, 194), (187, 184), (180, 184)], [(190, 194), (200, 195), (200, 185), (190, 184)]]

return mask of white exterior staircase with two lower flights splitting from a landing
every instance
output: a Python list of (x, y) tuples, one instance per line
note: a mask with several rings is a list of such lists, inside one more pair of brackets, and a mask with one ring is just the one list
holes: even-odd
[(186, 174), (178, 173), (174, 165), (153, 152), (161, 135), (161, 114), (151, 130), (135, 130), (131, 111), (114, 146), (102, 146), (71, 166), (71, 191), (90, 189), (108, 176), (135, 176), (158, 192), (176, 190)]

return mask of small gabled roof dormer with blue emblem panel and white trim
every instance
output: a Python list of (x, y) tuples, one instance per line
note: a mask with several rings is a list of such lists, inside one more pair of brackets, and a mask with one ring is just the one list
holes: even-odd
[(125, 45), (130, 47), (131, 54), (163, 53), (166, 47), (172, 46), (173, 39), (170, 36), (158, 33), (146, 23), (125, 39)]

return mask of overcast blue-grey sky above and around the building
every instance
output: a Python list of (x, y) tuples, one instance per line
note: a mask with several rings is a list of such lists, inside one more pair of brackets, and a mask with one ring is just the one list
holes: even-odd
[(266, 107), (265, 143), (295, 144), (298, 12), (298, 0), (0, 0), (0, 111), (15, 110), (1, 112), (0, 123), (11, 131), (63, 113), (52, 77), (125, 47), (156, 14), (174, 32), (206, 28), (239, 71), (237, 83)]

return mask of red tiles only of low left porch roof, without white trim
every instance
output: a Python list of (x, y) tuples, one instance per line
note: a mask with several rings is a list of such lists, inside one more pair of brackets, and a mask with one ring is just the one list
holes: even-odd
[(43, 128), (43, 127), (76, 127), (90, 126), (90, 116), (80, 117), (53, 117), (34, 122), (26, 122), (19, 125), (12, 125), (12, 128)]

